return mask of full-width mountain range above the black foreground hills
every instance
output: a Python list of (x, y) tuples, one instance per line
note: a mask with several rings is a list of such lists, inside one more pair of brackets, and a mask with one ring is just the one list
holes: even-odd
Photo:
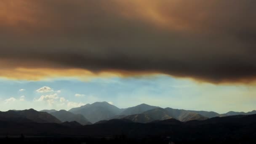
[(231, 115), (252, 115), (252, 112), (227, 112), (219, 114), (217, 112), (194, 111), (173, 108), (161, 108), (140, 104), (135, 107), (119, 109), (107, 102), (95, 102), (81, 107), (72, 108), (69, 111), (55, 109), (42, 110), (37, 112), (34, 109), (7, 112), (0, 112), (0, 120), (16, 122), (36, 122), (36, 123), (65, 123), (77, 122), (81, 125), (91, 125), (92, 123), (102, 123), (106, 120), (125, 119), (134, 123), (151, 123), (159, 120), (176, 119), (181, 122), (192, 120), (207, 120), (212, 117), (226, 117)]

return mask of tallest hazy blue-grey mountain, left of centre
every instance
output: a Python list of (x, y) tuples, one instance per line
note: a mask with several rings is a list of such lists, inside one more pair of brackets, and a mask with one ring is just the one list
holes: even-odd
[(95, 102), (93, 104), (86, 104), (85, 106), (70, 109), (69, 112), (74, 114), (81, 114), (90, 122), (96, 123), (100, 120), (107, 120), (121, 112), (121, 109), (107, 103)]

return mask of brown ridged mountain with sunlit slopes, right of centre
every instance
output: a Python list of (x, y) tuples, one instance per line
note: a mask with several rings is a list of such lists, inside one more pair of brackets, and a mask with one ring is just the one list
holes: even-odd
[(207, 117), (203, 117), (202, 115), (199, 115), (194, 112), (189, 112), (186, 110), (179, 110), (179, 109), (171, 109), (171, 108), (151, 109), (146, 112), (143, 112), (142, 114), (129, 115), (123, 118), (132, 120), (133, 122), (136, 122), (136, 123), (149, 123), (155, 120), (166, 120), (171, 118), (180, 120), (182, 122), (186, 122), (189, 120), (206, 120), (207, 119)]

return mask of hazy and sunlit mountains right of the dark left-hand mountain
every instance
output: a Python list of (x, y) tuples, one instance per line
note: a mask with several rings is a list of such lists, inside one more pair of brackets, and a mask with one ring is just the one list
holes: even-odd
[(61, 122), (77, 121), (82, 125), (111, 119), (127, 119), (135, 123), (150, 123), (156, 120), (173, 118), (181, 122), (187, 122), (190, 120), (206, 120), (212, 117), (256, 114), (256, 111), (248, 113), (227, 112), (226, 114), (219, 114), (217, 112), (173, 109), (169, 107), (163, 109), (157, 106), (150, 106), (148, 104), (139, 104), (135, 107), (119, 109), (106, 101), (72, 108), (68, 112), (64, 110), (56, 111), (54, 109), (43, 111), (57, 117)]

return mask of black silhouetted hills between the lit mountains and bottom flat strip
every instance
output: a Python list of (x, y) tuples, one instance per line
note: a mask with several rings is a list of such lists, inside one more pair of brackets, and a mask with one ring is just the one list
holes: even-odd
[[(201, 141), (201, 143), (250, 143), (255, 142), (256, 115), (237, 115), (213, 117), (208, 120), (192, 120), (186, 123), (174, 119), (154, 121), (152, 123), (133, 123), (131, 121), (108, 120), (104, 123), (79, 126), (71, 123), (16, 123), (0, 121), (0, 135), (25, 136), (76, 136), (90, 138), (115, 139), (124, 136), (127, 139), (168, 139), (171, 141)], [(123, 138), (124, 138), (123, 137)], [(253, 144), (253, 143), (252, 143)]]

